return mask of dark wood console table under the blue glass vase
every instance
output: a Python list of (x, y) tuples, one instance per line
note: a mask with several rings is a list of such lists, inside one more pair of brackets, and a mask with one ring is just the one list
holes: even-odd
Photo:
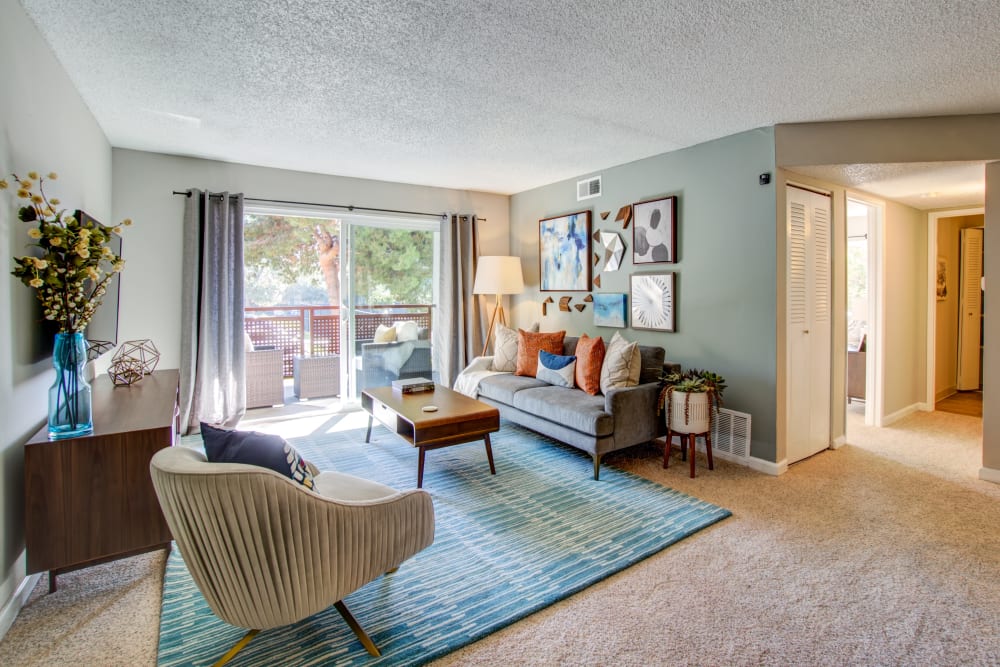
[(174, 444), (176, 370), (128, 387), (94, 380), (94, 432), (49, 440), (43, 427), (24, 448), (28, 574), (56, 576), (170, 545), (149, 476), (153, 454)]

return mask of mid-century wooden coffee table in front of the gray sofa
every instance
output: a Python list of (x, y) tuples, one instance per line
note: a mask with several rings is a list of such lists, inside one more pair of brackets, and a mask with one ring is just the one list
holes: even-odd
[[(436, 412), (424, 412), (424, 406), (437, 406)], [(447, 387), (435, 385), (434, 391), (403, 394), (392, 387), (373, 387), (361, 392), (361, 406), (368, 411), (368, 433), (372, 437), (372, 422), (377, 419), (390, 431), (420, 450), (417, 461), (417, 488), (424, 483), (424, 453), (466, 442), (486, 443), (486, 458), (490, 474), (497, 474), (493, 465), (490, 433), (500, 430), (500, 411), (474, 398)]]

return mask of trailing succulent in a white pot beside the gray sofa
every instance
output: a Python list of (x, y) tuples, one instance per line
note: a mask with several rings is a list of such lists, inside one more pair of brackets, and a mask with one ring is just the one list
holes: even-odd
[(722, 407), (726, 379), (692, 368), (660, 376), (658, 409), (666, 407), (667, 429), (674, 433), (707, 433), (712, 414)]

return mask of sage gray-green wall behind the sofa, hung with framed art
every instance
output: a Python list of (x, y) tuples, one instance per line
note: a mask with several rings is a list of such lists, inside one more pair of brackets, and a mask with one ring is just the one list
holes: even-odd
[[(513, 324), (538, 321), (543, 331), (565, 329), (610, 339), (616, 329), (597, 328), (593, 309), (542, 317), (538, 268), (538, 221), (591, 209), (593, 228), (618, 231), (626, 245), (622, 269), (601, 274), (596, 292), (628, 293), (632, 273), (675, 272), (676, 333), (621, 330), (629, 340), (666, 348), (686, 368), (707, 368), (728, 381), (726, 406), (753, 416), (752, 454), (774, 461), (775, 431), (775, 193), (758, 175), (774, 172), (770, 128), (744, 132), (691, 148), (528, 190), (511, 197), (511, 252), (522, 260), (525, 293), (514, 298)], [(603, 194), (576, 200), (576, 181), (600, 174)], [(632, 264), (632, 227), (614, 222), (626, 204), (677, 195), (676, 264)], [(606, 221), (600, 213), (610, 211)], [(571, 304), (583, 293), (569, 293)]]

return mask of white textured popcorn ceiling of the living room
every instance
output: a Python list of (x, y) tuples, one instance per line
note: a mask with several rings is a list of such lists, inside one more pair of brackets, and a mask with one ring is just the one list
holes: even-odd
[(781, 122), (1000, 111), (996, 0), (22, 0), (116, 147), (513, 193)]

